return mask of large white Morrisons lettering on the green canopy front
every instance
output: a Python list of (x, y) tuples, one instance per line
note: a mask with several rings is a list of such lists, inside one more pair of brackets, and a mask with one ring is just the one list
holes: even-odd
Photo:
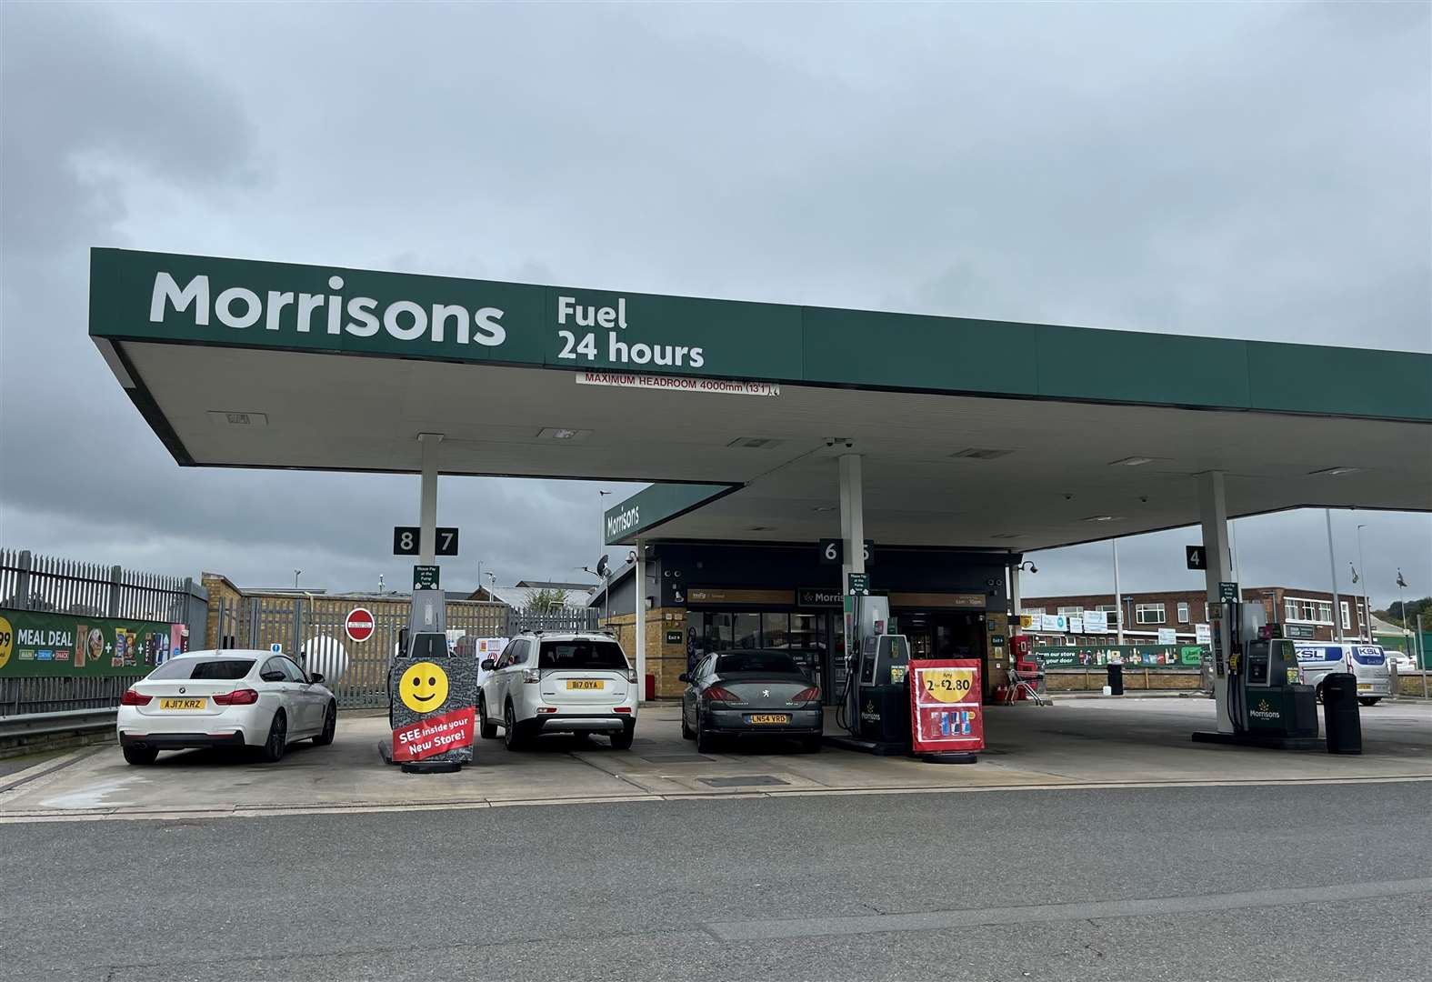
[[(298, 334), (326, 332), (371, 338), (385, 331), (397, 341), (428, 339), (441, 344), (451, 331), (460, 345), (477, 344), (495, 348), (507, 341), (501, 308), (480, 306), (468, 311), (458, 303), (417, 303), (414, 301), (382, 301), (372, 296), (349, 296), (342, 276), (329, 276), (332, 293), (295, 293), (292, 291), (258, 291), (231, 286), (211, 298), (209, 276), (192, 276), (183, 286), (168, 272), (155, 273), (149, 298), (150, 324), (163, 324), (170, 313), (188, 313), (198, 326), (209, 326), (211, 316), (226, 328), (245, 331), (263, 322), (265, 331), (291, 329)], [(190, 311), (192, 308), (192, 311)], [(347, 313), (348, 321), (344, 322)]]

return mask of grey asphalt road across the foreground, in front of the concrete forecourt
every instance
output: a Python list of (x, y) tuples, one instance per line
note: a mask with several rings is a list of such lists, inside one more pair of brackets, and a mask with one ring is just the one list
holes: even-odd
[(1389, 979), (1432, 784), (0, 826), (0, 978)]

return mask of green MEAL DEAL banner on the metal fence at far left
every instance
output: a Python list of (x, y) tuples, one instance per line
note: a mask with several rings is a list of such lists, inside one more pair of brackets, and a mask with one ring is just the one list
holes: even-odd
[(189, 650), (182, 624), (0, 608), (0, 677), (135, 676)]

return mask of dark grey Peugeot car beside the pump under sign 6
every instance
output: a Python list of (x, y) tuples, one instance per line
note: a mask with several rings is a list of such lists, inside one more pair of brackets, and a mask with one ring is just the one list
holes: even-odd
[(707, 753), (722, 737), (795, 737), (821, 749), (821, 689), (785, 651), (716, 651), (682, 674), (682, 736)]

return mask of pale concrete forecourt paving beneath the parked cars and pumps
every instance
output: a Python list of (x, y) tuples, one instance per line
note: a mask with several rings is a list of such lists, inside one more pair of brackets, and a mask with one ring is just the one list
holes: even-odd
[[(992, 707), (998, 739), (974, 766), (939, 766), (783, 744), (697, 754), (677, 709), (643, 711), (629, 752), (606, 740), (550, 737), (510, 753), (478, 742), (458, 774), (402, 774), (378, 763), (387, 719), (344, 716), (329, 747), (295, 746), (279, 764), (188, 752), (132, 767), (113, 746), (80, 750), (0, 779), (0, 823), (295, 812), (471, 809), (510, 804), (662, 802), (1127, 784), (1432, 780), (1432, 706), (1388, 703), (1363, 713), (1363, 754), (1283, 753), (1194, 744), (1206, 699), (1070, 700)], [(49, 770), (46, 770), (49, 769)], [(19, 783), (17, 783), (19, 782)]]

